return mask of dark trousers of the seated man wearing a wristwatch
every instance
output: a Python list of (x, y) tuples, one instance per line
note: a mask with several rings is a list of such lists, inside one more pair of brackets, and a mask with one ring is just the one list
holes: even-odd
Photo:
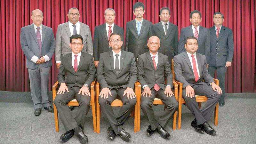
[[(54, 104), (57, 107), (60, 119), (66, 131), (72, 130), (77, 126), (81, 126), (82, 129), (84, 129), (85, 116), (90, 109), (91, 96), (82, 95), (82, 93), (78, 94), (80, 89), (81, 88), (78, 86), (68, 88), (69, 92), (65, 91), (64, 94), (58, 94), (54, 100)], [(67, 104), (75, 98), (79, 103), (79, 107), (76, 112), (76, 117), (74, 118)]]

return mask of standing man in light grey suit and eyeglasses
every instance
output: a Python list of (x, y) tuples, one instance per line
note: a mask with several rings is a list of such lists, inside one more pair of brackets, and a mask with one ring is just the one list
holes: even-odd
[[(80, 34), (84, 38), (82, 52), (93, 55), (91, 31), (88, 25), (79, 21), (80, 14), (78, 9), (75, 7), (70, 8), (67, 16), (68, 22), (60, 24), (56, 33), (55, 61), (57, 68), (60, 68), (61, 57), (71, 53), (69, 38), (72, 35)], [(69, 106), (69, 109), (72, 111), (74, 107)]]

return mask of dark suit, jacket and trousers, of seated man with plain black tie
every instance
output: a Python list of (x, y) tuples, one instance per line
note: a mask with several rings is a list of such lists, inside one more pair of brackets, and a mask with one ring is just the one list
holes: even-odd
[[(106, 114), (106, 118), (116, 134), (122, 130), (122, 125), (136, 104), (136, 99), (128, 99), (127, 94), (123, 96), (127, 87), (133, 89), (136, 79), (137, 69), (133, 53), (121, 51), (119, 74), (116, 74), (114, 69), (113, 51), (100, 54), (97, 81), (100, 83), (101, 89), (109, 88), (112, 96), (108, 96), (108, 99), (99, 97), (99, 104), (102, 113)], [(117, 117), (111, 106), (116, 98), (123, 102)]]

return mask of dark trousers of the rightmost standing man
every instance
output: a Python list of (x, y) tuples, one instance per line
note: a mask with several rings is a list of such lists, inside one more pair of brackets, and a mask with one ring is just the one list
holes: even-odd
[(222, 94), (220, 100), (224, 100), (226, 90), (225, 90), (225, 77), (226, 77), (226, 70), (225, 66), (223, 67), (208, 67), (208, 71), (212, 77), (214, 77), (215, 70), (217, 71), (217, 77), (220, 80), (220, 88), (222, 90)]

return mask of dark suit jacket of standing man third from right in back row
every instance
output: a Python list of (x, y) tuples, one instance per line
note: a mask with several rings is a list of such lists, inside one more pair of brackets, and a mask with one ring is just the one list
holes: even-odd
[(165, 36), (164, 28), (161, 21), (155, 25), (153, 25), (154, 34), (160, 39), (160, 48), (158, 52), (163, 53), (168, 56), (169, 63), (171, 64), (171, 60), (178, 53), (178, 27), (171, 22), (169, 22), (169, 28), (167, 31), (167, 36)]

